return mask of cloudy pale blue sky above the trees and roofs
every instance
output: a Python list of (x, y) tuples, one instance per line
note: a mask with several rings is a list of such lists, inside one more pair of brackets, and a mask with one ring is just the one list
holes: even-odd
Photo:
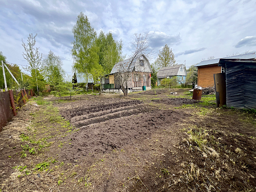
[(71, 75), (72, 28), (80, 12), (97, 34), (111, 32), (122, 40), (123, 55), (134, 50), (134, 34), (148, 34), (151, 63), (165, 44), (177, 64), (186, 67), (209, 56), (225, 57), (256, 51), (255, 0), (0, 0), (0, 51), (10, 63), (23, 58), (29, 33), (46, 58), (58, 55)]

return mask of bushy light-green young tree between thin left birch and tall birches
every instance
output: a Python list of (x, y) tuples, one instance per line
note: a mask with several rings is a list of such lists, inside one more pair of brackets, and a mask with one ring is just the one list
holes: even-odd
[(49, 51), (47, 58), (43, 60), (44, 76), (47, 84), (53, 87), (53, 90), (64, 80), (65, 72), (62, 65), (60, 57), (54, 55), (52, 51)]

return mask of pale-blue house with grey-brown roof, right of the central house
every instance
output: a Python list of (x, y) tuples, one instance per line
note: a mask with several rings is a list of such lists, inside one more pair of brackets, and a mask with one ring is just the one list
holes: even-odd
[(157, 85), (161, 84), (163, 79), (173, 79), (177, 78), (179, 83), (186, 81), (186, 69), (185, 65), (179, 64), (169, 67), (162, 67), (160, 70), (157, 71)]

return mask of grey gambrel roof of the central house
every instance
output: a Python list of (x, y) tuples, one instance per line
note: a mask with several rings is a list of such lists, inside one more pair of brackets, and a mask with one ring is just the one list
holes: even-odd
[[(114, 67), (112, 68), (110, 74), (118, 73), (118, 72), (120, 71), (120, 68), (122, 68), (122, 69), (121, 69), (121, 72), (123, 72), (123, 71), (132, 71), (132, 70), (134, 70), (134, 69), (135, 69), (135, 71), (138, 71), (138, 70), (137, 70), (137, 66), (136, 66), (136, 62), (137, 62), (138, 58), (140, 58), (141, 56), (143, 56), (143, 58), (147, 61), (146, 63), (149, 64), (148, 59), (145, 57), (144, 54), (142, 54), (142, 55), (139, 55), (137, 58), (135, 58), (135, 59), (132, 61), (132, 63), (131, 63), (132, 58), (128, 58), (128, 59), (125, 59), (124, 61), (120, 61), (120, 62), (116, 63), (116, 64), (114, 65)], [(130, 65), (130, 64), (131, 64), (131, 65)], [(122, 66), (122, 67), (121, 67), (121, 66)], [(129, 68), (129, 69), (128, 69), (128, 68)], [(150, 64), (149, 64), (148, 68), (149, 68), (149, 71), (148, 71), (148, 72), (149, 72), (149, 73), (152, 73), (152, 69), (151, 69), (151, 67), (150, 67)]]

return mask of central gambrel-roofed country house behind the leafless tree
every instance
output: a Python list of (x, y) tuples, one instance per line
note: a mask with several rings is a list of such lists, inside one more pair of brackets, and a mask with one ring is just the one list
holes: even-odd
[(128, 73), (129, 92), (151, 89), (151, 73), (153, 72), (145, 55), (140, 55), (132, 61), (128, 58), (116, 63), (111, 73), (102, 78), (102, 91), (105, 93), (121, 93), (119, 73)]

